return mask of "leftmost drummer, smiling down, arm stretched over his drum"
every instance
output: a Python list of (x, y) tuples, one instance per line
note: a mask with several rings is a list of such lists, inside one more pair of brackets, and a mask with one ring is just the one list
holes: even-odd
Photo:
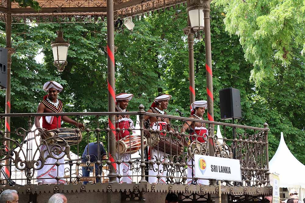
[[(43, 100), (38, 105), (37, 113), (61, 113), (63, 109), (63, 103), (57, 98), (58, 93), (63, 90), (63, 86), (61, 86), (58, 82), (49, 81), (46, 82), (43, 86), (43, 89), (48, 93), (43, 97)], [(40, 120), (41, 116), (36, 116), (34, 123), (36, 128), (41, 128)], [(42, 128), (46, 130), (54, 130), (61, 127), (61, 120), (74, 124), (77, 128), (84, 128), (84, 124), (78, 123), (77, 121), (72, 120), (67, 116), (43, 116), (42, 117)], [(63, 150), (65, 148), (63, 147)], [(51, 146), (41, 145), (40, 151), (44, 152), (44, 157), (46, 158), (49, 153), (48, 151), (52, 151)], [(52, 156), (55, 158), (63, 157), (64, 152), (61, 152), (59, 155), (56, 153), (52, 153)], [(56, 166), (55, 163), (59, 162), (60, 165)], [(39, 162), (39, 165), (41, 163)], [(38, 166), (40, 167), (40, 166)], [(45, 159), (45, 165), (37, 171), (37, 182), (38, 185), (42, 184), (56, 184), (57, 180), (56, 176), (63, 177), (64, 176), (64, 157), (61, 159), (53, 159), (52, 157), (48, 157)], [(59, 179), (59, 183), (64, 184), (65, 181), (63, 179)]]

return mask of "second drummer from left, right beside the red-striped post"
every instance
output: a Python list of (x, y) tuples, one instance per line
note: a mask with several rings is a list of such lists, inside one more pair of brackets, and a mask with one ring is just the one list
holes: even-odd
[[(127, 112), (127, 107), (129, 101), (132, 99), (133, 94), (120, 93), (116, 95), (116, 112), (121, 112), (122, 114), (115, 117), (116, 128), (120, 128), (119, 132), (116, 132), (116, 140), (120, 140), (127, 136), (131, 136), (128, 128), (135, 129), (134, 122), (130, 119), (129, 115), (124, 115), (124, 112)], [(117, 164), (117, 171), (122, 177), (117, 179), (118, 183), (131, 183), (132, 182), (132, 171), (129, 170), (128, 161), (131, 159), (130, 154), (119, 154), (118, 159), (122, 162), (120, 165)]]

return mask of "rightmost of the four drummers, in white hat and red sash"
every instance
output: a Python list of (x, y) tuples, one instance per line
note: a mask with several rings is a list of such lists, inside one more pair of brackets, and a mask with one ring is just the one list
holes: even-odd
[[(205, 100), (193, 102), (191, 104), (191, 116), (189, 118), (203, 120), (203, 114), (205, 113), (206, 108), (207, 108), (207, 101)], [(185, 132), (186, 130), (190, 131), (190, 135), (194, 135), (194, 134), (197, 135), (196, 140), (193, 138), (193, 136), (190, 136), (191, 143), (194, 141), (200, 143), (206, 142), (208, 135), (206, 124), (200, 122), (185, 121), (181, 131)], [(194, 183), (195, 169), (193, 166), (194, 166), (194, 159), (192, 159), (192, 157), (189, 157), (187, 163), (188, 174), (186, 179), (188, 184)], [(208, 185), (209, 180), (198, 179), (197, 184)]]

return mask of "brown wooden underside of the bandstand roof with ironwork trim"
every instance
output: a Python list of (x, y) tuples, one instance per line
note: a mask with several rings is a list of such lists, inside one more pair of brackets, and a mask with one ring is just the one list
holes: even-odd
[[(8, 9), (7, 1), (2, 0), (0, 5), (2, 22), (5, 22), (4, 14), (12, 15), (12, 23), (24, 23), (24, 19), (35, 19), (40, 23), (70, 22), (71, 18), (75, 22), (99, 22), (104, 20), (107, 11), (106, 0), (37, 0), (41, 6), (39, 12), (32, 8), (21, 8), (16, 2), (12, 2), (11, 9)], [(141, 15), (185, 2), (186, 0), (114, 0), (115, 19)]]

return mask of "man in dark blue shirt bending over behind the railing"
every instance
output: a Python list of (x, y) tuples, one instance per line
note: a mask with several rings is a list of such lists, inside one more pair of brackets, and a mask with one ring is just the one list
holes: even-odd
[[(88, 156), (89, 154), (89, 156)], [(91, 142), (89, 143), (84, 150), (83, 155), (81, 156), (82, 162), (86, 163), (87, 161), (96, 162), (97, 160), (106, 159), (106, 151), (102, 143)], [(89, 177), (89, 173), (92, 172), (93, 166), (82, 166), (83, 177)], [(99, 174), (99, 166), (95, 163), (95, 176)], [(99, 183), (99, 179), (96, 179), (96, 182)], [(83, 184), (86, 185), (88, 181), (84, 181)]]

